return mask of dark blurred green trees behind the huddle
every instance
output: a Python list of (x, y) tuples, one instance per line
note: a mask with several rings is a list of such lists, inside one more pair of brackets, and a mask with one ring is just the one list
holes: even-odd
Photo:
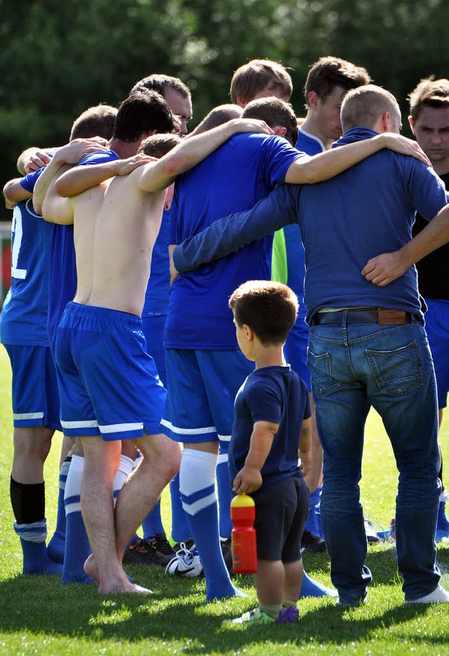
[(365, 66), (404, 114), (420, 78), (449, 77), (445, 0), (0, 0), (0, 17), (2, 181), (25, 147), (65, 143), (86, 107), (118, 105), (152, 72), (192, 88), (192, 126), (229, 100), (232, 73), (252, 58), (290, 68), (298, 114), (323, 55)]

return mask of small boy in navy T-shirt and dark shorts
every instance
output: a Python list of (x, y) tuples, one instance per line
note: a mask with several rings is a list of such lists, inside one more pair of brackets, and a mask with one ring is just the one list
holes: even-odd
[[(251, 280), (229, 299), (239, 347), (255, 362), (236, 395), (229, 470), (236, 494), (255, 501), (259, 606), (234, 622), (297, 622), (301, 537), (309, 508), (302, 478), (310, 466), (307, 388), (286, 365), (283, 345), (297, 315), (284, 284)], [(299, 456), (304, 471), (298, 464)]]

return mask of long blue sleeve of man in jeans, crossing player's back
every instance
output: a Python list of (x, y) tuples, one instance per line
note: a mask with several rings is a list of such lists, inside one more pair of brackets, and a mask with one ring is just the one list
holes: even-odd
[(173, 263), (177, 271), (192, 271), (202, 264), (235, 253), (284, 225), (297, 223), (299, 197), (300, 185), (280, 185), (252, 209), (214, 221), (206, 230), (175, 248)]

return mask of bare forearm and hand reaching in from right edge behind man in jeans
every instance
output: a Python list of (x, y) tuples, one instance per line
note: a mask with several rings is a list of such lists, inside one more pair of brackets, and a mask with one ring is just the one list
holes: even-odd
[(371, 258), (363, 268), (362, 275), (373, 284), (385, 287), (403, 275), (409, 266), (447, 242), (449, 242), (449, 204), (401, 249)]

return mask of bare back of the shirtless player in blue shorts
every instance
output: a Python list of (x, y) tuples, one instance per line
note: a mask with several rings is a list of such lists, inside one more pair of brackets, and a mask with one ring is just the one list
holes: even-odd
[(166, 190), (138, 188), (139, 170), (76, 198), (74, 301), (140, 316)]

